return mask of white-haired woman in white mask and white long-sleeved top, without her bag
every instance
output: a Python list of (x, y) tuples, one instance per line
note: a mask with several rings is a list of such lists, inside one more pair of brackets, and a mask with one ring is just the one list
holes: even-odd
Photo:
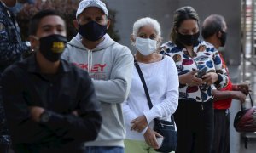
[(160, 34), (159, 22), (149, 17), (133, 25), (131, 42), (137, 49), (134, 58), (143, 72), (153, 107), (149, 109), (143, 83), (134, 68), (130, 94), (123, 103), (125, 153), (155, 152), (160, 147), (157, 138), (162, 136), (153, 129), (154, 118), (170, 121), (177, 109), (177, 68), (172, 58), (156, 53)]

